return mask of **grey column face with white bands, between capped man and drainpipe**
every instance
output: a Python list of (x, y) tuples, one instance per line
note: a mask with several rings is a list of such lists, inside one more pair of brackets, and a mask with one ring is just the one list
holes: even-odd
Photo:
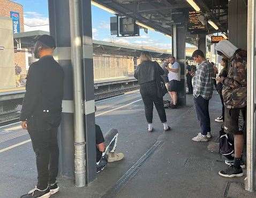
[(59, 175), (74, 178), (73, 77), (70, 49), (69, 0), (48, 0), (50, 34), (55, 38), (55, 59), (65, 73), (62, 123), (58, 131)]

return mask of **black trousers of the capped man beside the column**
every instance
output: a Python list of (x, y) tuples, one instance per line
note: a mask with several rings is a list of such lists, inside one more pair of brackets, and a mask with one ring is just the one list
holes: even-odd
[(29, 129), (28, 133), (32, 140), (36, 155), (37, 187), (46, 189), (48, 184), (54, 184), (58, 175), (59, 149), (57, 142), (58, 128), (47, 131)]

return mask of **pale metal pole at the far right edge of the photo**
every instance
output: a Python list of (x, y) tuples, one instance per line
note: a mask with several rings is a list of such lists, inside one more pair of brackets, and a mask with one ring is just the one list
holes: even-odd
[(247, 22), (247, 177), (246, 191), (254, 191), (255, 167), (255, 1), (248, 1)]

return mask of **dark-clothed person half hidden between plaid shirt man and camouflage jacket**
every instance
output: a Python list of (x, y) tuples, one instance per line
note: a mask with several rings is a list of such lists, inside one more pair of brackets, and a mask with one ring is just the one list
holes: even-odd
[[(221, 60), (221, 66), (223, 67), (223, 69), (221, 70), (219, 77), (227, 77), (228, 76), (228, 61), (223, 58)], [(219, 82), (216, 85), (216, 90), (220, 94), (221, 103), (222, 103), (222, 115), (215, 119), (216, 122), (224, 122), (225, 108), (224, 108), (224, 102), (223, 102), (223, 96), (222, 96), (222, 86), (223, 86), (223, 84), (221, 82)]]

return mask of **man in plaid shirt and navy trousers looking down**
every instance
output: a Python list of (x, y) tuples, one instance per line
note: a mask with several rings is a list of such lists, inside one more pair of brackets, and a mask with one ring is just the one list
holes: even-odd
[(199, 64), (194, 77), (193, 96), (201, 127), (201, 132), (192, 140), (208, 141), (212, 137), (208, 107), (209, 99), (212, 98), (213, 94), (213, 65), (205, 59), (205, 55), (201, 50), (195, 50), (192, 57)]

